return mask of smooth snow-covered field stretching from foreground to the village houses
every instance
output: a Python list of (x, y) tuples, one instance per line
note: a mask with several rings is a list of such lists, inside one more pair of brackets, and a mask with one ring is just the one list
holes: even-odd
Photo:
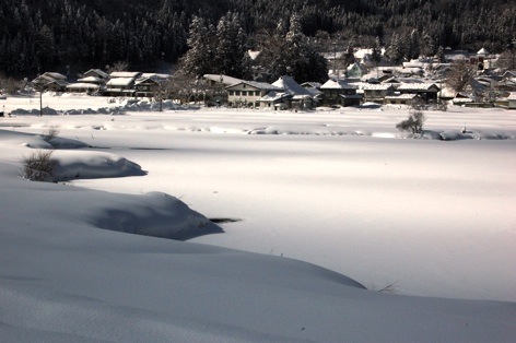
[[(515, 111), (0, 105), (2, 342), (516, 335)], [(73, 180), (20, 178), (52, 145)]]

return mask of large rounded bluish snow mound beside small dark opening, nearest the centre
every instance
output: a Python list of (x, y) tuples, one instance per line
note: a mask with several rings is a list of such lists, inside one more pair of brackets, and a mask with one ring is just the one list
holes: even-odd
[(94, 226), (136, 235), (186, 240), (222, 233), (219, 226), (177, 198), (160, 192), (126, 196), (94, 212), (91, 216)]

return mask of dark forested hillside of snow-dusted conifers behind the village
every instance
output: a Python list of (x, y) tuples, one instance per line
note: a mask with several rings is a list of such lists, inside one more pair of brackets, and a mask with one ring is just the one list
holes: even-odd
[(116, 61), (151, 69), (185, 55), (194, 17), (216, 25), (228, 11), (250, 48), (293, 13), (320, 50), (371, 47), (378, 37), (404, 45), (403, 58), (439, 46), (501, 52), (516, 32), (516, 4), (502, 0), (2, 0), (0, 71), (27, 76)]

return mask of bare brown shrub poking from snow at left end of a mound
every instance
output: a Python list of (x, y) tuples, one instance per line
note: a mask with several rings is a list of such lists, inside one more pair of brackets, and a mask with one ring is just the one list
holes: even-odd
[(38, 150), (31, 155), (23, 157), (22, 177), (32, 181), (54, 182), (54, 151)]

